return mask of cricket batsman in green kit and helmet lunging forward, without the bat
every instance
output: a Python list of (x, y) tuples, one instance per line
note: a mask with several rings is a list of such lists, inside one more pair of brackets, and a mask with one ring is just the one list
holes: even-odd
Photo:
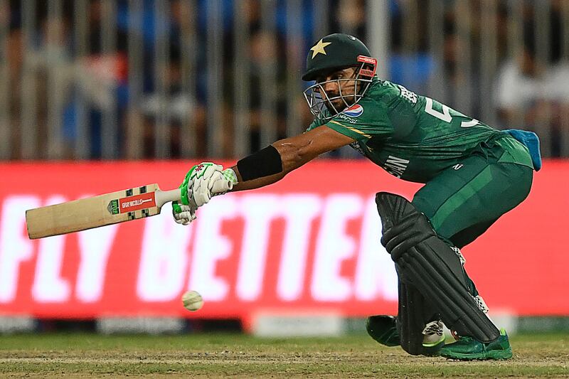
[[(275, 183), (326, 151), (350, 145), (405, 181), (425, 183), (413, 201), (376, 195), (381, 243), (398, 274), (398, 316), (371, 316), (368, 333), (413, 355), (461, 360), (511, 358), (504, 329), (464, 270), (459, 249), (521, 203), (541, 168), (536, 134), (499, 131), (429, 97), (376, 76), (377, 60), (357, 38), (331, 34), (310, 48), (303, 80), (314, 122), (235, 166), (193, 166), (174, 219), (187, 225), (216, 181), (230, 191)], [(342, 180), (342, 178), (337, 178)], [(349, 178), (346, 178), (349, 180)], [(379, 232), (379, 231), (378, 231)], [(380, 237), (378, 233), (378, 237)], [(457, 341), (445, 345), (443, 323)]]

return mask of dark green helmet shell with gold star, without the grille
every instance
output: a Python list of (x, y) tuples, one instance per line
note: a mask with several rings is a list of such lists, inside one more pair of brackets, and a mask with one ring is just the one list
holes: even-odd
[(358, 38), (348, 34), (330, 34), (310, 48), (307, 71), (302, 75), (302, 80), (314, 80), (317, 73), (322, 70), (360, 65), (361, 60), (358, 60), (360, 56), (371, 57), (371, 53)]

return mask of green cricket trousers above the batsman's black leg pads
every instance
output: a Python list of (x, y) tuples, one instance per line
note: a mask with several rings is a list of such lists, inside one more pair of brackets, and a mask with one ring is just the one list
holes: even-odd
[(413, 198), (439, 237), (464, 247), (529, 194), (533, 169), (510, 137), (483, 142), (461, 164), (426, 183)]

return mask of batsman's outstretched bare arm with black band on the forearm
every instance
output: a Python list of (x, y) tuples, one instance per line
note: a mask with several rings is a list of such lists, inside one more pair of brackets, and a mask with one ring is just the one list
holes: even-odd
[[(252, 154), (231, 167), (235, 171), (238, 181), (231, 191), (259, 188), (280, 181), (290, 171), (298, 169), (320, 154), (352, 142), (351, 137), (326, 126), (314, 128), (294, 137), (281, 139), (265, 148), (269, 151)], [(267, 161), (272, 166), (263, 167), (266, 166)], [(244, 171), (243, 175), (240, 172), (240, 167)]]

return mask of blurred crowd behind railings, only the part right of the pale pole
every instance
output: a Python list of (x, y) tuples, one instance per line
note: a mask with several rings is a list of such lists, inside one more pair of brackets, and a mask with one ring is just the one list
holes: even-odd
[[(457, 0), (440, 9), (427, 5), (433, 1), (391, 4), (391, 80), (498, 129), (537, 132), (545, 156), (569, 156), (569, 1)], [(418, 14), (411, 39), (403, 12), (409, 4)], [(430, 33), (437, 10), (438, 63)]]

